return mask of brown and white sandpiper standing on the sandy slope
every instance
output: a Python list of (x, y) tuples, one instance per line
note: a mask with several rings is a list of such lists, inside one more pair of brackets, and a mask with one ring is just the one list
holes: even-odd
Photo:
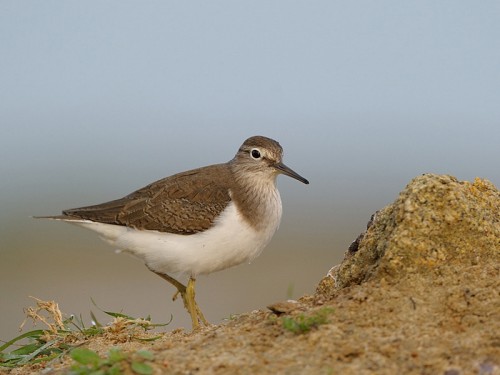
[[(182, 297), (193, 331), (209, 323), (195, 299), (199, 275), (255, 259), (279, 227), (279, 174), (309, 181), (287, 167), (281, 145), (246, 139), (233, 159), (160, 179), (123, 198), (36, 218), (61, 220), (144, 261)], [(186, 284), (172, 275), (187, 276)]]

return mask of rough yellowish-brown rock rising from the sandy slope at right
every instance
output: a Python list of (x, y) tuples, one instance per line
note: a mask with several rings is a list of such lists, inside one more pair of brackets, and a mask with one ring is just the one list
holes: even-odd
[(416, 177), (368, 226), (320, 283), (320, 293), (367, 280), (393, 283), (500, 263), (500, 192), (487, 180)]

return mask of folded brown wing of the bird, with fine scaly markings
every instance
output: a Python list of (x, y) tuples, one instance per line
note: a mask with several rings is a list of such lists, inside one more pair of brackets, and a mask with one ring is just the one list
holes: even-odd
[(193, 234), (210, 228), (231, 198), (226, 164), (179, 173), (126, 197), (63, 211), (65, 216), (138, 229)]

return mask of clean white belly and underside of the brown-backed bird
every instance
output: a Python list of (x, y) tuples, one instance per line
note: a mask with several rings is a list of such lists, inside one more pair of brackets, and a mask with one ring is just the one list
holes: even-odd
[(157, 272), (196, 276), (250, 262), (257, 257), (281, 220), (281, 200), (279, 195), (274, 198), (277, 200), (265, 218), (268, 223), (261, 231), (243, 220), (234, 203), (228, 205), (212, 228), (192, 235), (139, 231), (88, 220), (68, 222), (98, 232), (106, 242), (139, 257)]

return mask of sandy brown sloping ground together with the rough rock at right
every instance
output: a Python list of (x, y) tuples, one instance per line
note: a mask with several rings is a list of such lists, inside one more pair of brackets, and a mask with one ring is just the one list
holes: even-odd
[(157, 374), (500, 374), (500, 192), (487, 180), (416, 177), (314, 295), (151, 343), (122, 332), (84, 345), (103, 356), (148, 349)]

